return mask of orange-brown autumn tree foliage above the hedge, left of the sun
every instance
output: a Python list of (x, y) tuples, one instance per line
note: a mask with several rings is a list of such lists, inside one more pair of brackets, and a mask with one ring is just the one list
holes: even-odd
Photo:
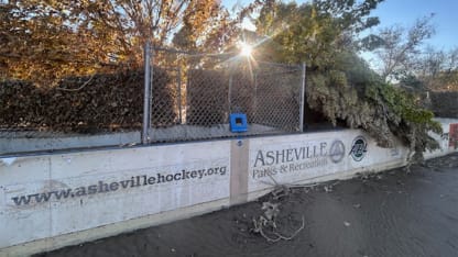
[(211, 47), (229, 22), (212, 0), (11, 0), (0, 19), (1, 75), (30, 80), (137, 67), (145, 41), (171, 45), (177, 31), (177, 46)]

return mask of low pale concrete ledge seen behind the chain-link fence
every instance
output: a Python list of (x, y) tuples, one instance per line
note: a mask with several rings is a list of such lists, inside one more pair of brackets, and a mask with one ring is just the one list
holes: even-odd
[[(250, 130), (244, 136), (261, 134), (285, 134), (275, 127), (249, 124)], [(164, 128), (150, 128), (151, 142), (179, 142), (200, 138), (237, 137), (231, 133), (229, 124), (203, 127), (194, 125), (175, 125)], [(117, 132), (108, 134), (66, 134), (53, 132), (2, 132), (0, 131), (0, 156), (18, 153), (57, 152), (68, 149), (121, 147), (141, 144), (140, 132)]]

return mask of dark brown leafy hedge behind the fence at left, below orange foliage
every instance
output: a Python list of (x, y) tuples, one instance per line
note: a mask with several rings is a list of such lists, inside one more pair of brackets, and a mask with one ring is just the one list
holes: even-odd
[[(167, 74), (155, 68), (152, 124), (174, 124), (176, 90)], [(143, 115), (143, 72), (123, 70), (90, 77), (70, 77), (57, 87), (26, 81), (0, 82), (0, 127), (96, 133), (135, 130)], [(161, 101), (157, 101), (161, 100)]]

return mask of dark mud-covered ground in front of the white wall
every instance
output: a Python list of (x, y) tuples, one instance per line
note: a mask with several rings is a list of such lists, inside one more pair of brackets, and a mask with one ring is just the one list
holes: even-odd
[(39, 256), (458, 256), (458, 154)]

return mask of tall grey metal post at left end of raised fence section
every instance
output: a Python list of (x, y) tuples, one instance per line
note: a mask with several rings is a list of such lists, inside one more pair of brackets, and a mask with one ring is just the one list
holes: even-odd
[(146, 42), (144, 45), (144, 98), (143, 98), (143, 124), (142, 124), (142, 144), (150, 141), (149, 127), (151, 116), (151, 45)]

